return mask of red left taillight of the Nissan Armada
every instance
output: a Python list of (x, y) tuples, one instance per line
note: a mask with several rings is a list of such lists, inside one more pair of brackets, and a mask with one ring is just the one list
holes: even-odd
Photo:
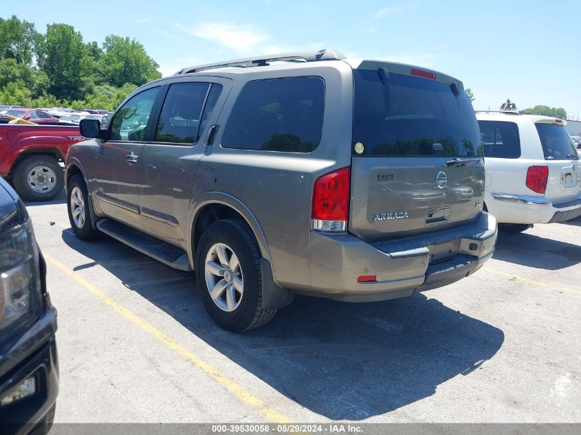
[(350, 168), (333, 170), (316, 179), (313, 187), (313, 230), (345, 231), (349, 216)]

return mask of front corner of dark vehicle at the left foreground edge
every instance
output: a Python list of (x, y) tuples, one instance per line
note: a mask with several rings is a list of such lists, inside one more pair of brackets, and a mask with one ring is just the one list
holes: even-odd
[(58, 394), (56, 309), (26, 208), (0, 179), (0, 434), (46, 433)]

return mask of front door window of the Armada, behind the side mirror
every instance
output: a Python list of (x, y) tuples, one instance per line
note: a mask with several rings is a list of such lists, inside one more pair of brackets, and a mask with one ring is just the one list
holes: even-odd
[(147, 89), (133, 96), (113, 116), (110, 140), (135, 142), (144, 140), (145, 129), (159, 87)]

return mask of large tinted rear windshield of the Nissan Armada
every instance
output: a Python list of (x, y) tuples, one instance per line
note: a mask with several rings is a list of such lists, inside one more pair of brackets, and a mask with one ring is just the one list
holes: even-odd
[(353, 71), (353, 155), (481, 156), (480, 132), (465, 92), (426, 78)]

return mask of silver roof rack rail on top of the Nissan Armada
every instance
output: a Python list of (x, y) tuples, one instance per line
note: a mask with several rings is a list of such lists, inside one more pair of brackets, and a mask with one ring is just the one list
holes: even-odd
[(264, 67), (270, 62), (318, 62), (319, 60), (342, 60), (343, 56), (336, 50), (319, 50), (318, 52), (292, 52), (283, 54), (267, 54), (261, 56), (254, 56), (251, 58), (226, 60), (221, 63), (208, 63), (206, 65), (198, 65), (196, 67), (188, 67), (180, 69), (175, 73), (188, 74), (206, 69), (228, 68), (228, 67)]

